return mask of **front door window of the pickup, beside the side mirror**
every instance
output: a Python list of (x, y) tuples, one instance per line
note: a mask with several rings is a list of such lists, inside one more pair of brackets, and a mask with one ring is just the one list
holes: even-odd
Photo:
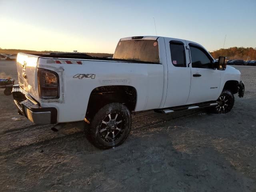
[(212, 61), (202, 48), (190, 45), (192, 67), (212, 68)]

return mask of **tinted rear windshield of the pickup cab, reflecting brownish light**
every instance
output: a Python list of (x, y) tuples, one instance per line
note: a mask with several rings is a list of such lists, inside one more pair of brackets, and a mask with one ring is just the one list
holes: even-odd
[(118, 42), (114, 59), (159, 63), (156, 40), (125, 40)]

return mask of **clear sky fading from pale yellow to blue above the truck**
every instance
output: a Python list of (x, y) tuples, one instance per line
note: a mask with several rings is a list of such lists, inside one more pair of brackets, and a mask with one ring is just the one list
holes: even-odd
[(120, 38), (256, 47), (256, 0), (0, 0), (0, 48), (113, 53)]

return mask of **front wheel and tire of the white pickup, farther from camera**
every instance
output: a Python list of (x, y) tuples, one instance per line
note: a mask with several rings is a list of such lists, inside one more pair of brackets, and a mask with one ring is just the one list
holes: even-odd
[(216, 114), (230, 112), (234, 106), (235, 98), (230, 90), (223, 90), (217, 100), (218, 105), (212, 108)]

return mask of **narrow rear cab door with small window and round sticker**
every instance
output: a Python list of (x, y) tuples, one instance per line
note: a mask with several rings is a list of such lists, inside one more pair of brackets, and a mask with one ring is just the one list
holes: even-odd
[(186, 41), (174, 38), (164, 40), (168, 66), (168, 86), (164, 108), (186, 105), (191, 80)]

